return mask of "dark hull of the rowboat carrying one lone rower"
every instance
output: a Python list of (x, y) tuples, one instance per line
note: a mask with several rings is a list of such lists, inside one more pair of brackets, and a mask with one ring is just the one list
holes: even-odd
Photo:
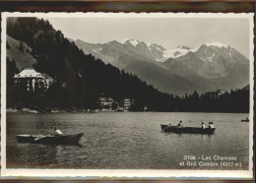
[(19, 143), (73, 145), (77, 144), (84, 133), (74, 135), (17, 135)]

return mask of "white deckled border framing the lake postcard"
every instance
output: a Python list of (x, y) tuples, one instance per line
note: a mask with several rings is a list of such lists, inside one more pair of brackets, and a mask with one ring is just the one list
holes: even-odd
[[(1, 176), (3, 177), (73, 177), (97, 179), (112, 178), (222, 178), (251, 179), (253, 178), (253, 89), (254, 89), (254, 43), (253, 43), (253, 13), (223, 14), (223, 13), (2, 13), (1, 22)], [(244, 18), (249, 20), (250, 34), (250, 112), (249, 112), (249, 170), (155, 170), (155, 169), (11, 169), (6, 168), (6, 18), (8, 17), (69, 17), (69, 18)]]

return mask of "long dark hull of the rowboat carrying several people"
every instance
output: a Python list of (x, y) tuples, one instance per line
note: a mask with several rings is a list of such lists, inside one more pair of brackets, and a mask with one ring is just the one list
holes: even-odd
[(182, 127), (160, 125), (162, 132), (172, 132), (177, 134), (214, 134), (216, 128), (198, 128), (198, 127)]

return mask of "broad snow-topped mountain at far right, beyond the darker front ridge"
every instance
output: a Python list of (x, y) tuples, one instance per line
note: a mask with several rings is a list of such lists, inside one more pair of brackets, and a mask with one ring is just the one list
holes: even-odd
[(191, 78), (198, 75), (217, 89), (242, 88), (249, 83), (249, 60), (228, 44), (205, 43), (184, 55), (163, 63), (171, 73)]

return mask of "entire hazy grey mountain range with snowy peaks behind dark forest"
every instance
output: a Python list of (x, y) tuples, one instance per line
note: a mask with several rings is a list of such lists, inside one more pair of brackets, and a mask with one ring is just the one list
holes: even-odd
[(167, 50), (157, 43), (128, 38), (102, 44), (73, 41), (86, 54), (135, 74), (168, 93), (229, 91), (249, 84), (249, 60), (220, 42), (195, 48), (179, 45)]

